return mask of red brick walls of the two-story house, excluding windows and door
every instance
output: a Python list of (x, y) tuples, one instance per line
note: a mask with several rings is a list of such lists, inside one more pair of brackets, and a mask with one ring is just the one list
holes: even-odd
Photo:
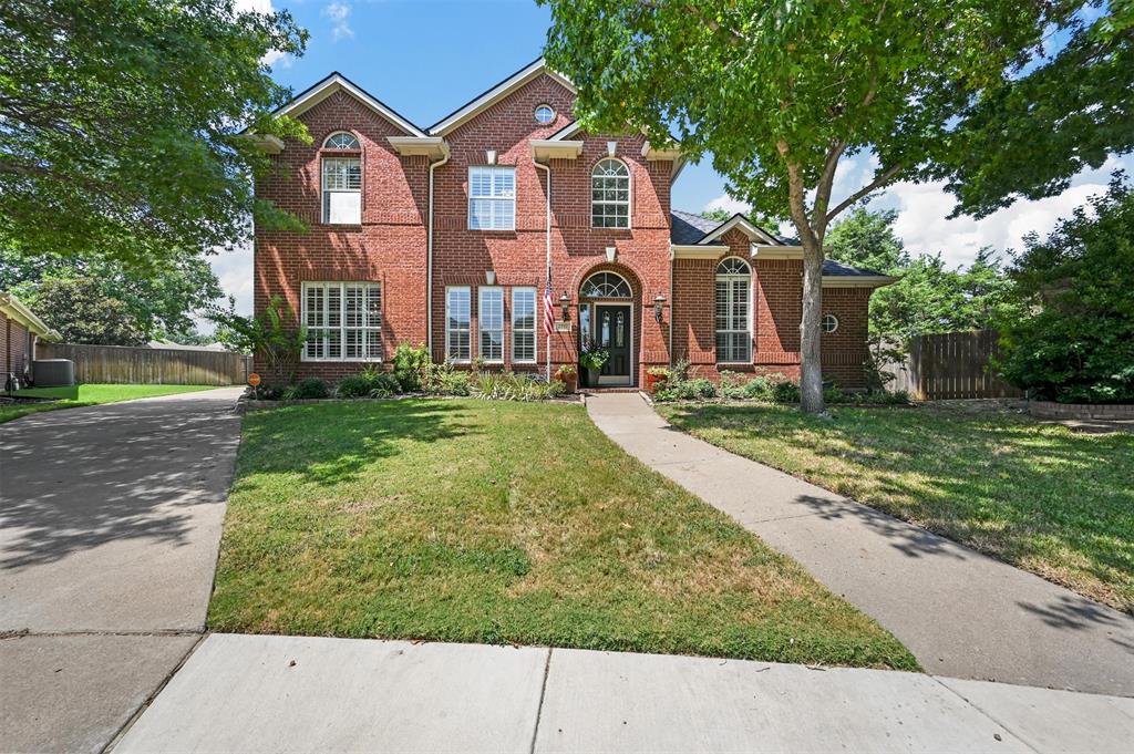
[[(263, 311), (280, 296), (298, 313), (303, 281), (378, 281), (382, 283), (383, 361), (398, 344), (421, 345), (432, 336), (432, 355), (445, 358), (446, 288), (471, 288), (472, 355), (477, 355), (477, 289), (493, 285), (505, 294), (505, 361), (502, 367), (542, 371), (547, 350), (542, 325), (536, 332), (536, 364), (514, 364), (511, 355), (511, 289), (534, 287), (542, 302), (547, 254), (548, 172), (538, 168), (531, 141), (547, 139), (570, 124), (574, 94), (559, 79), (539, 75), (511, 90), (459, 126), (445, 134), (448, 161), (434, 169), (433, 285), (428, 295), (429, 164), (426, 156), (400, 156), (391, 136), (406, 132), (376, 113), (346, 91), (337, 91), (298, 117), (313, 137), (311, 145), (288, 142), (274, 158), (276, 175), (257, 186), (260, 196), (310, 223), (307, 232), (257, 232), (255, 244), (255, 308)], [(555, 119), (540, 125), (535, 108), (550, 104)], [(328, 226), (321, 222), (320, 164), (325, 137), (348, 130), (361, 143), (362, 223)], [(697, 373), (719, 378), (716, 363), (713, 259), (670, 260), (671, 160), (642, 156), (640, 135), (590, 135), (570, 137), (583, 142), (575, 159), (550, 160), (551, 269), (556, 319), (561, 316), (560, 296), (569, 299), (570, 332), (551, 338), (551, 363), (578, 361), (579, 290), (592, 273), (619, 273), (633, 290), (634, 384), (644, 383), (645, 370), (688, 358)], [(608, 156), (631, 171), (631, 228), (591, 227), (591, 171)], [(515, 230), (468, 229), (468, 170), (485, 166), (494, 153), (498, 166), (514, 166), (516, 185)], [(753, 359), (730, 365), (751, 373), (799, 371), (799, 316), (802, 263), (792, 259), (751, 259), (750, 238), (729, 231), (717, 243), (728, 254), (751, 261), (753, 269)], [(608, 248), (615, 260), (608, 260)], [(721, 256), (726, 256), (722, 254)], [(672, 274), (672, 280), (670, 276)], [(667, 302), (663, 317), (654, 317), (654, 298)], [(839, 328), (823, 336), (824, 373), (844, 387), (862, 384), (865, 356), (865, 322), (869, 288), (824, 289), (824, 311), (836, 314)], [(428, 333), (426, 302), (432, 302), (432, 333)], [(538, 320), (542, 321), (541, 304)], [(671, 324), (670, 324), (671, 320)], [(672, 347), (670, 348), (670, 328)], [(256, 364), (257, 370), (264, 365)], [(362, 368), (356, 362), (305, 362), (301, 375), (336, 379)]]

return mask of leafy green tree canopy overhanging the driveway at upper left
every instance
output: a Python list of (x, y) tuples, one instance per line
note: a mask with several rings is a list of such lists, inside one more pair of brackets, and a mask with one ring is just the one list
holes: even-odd
[(305, 41), (234, 0), (0, 0), (0, 247), (156, 268), (294, 226), (240, 132), (305, 136), (262, 62)]

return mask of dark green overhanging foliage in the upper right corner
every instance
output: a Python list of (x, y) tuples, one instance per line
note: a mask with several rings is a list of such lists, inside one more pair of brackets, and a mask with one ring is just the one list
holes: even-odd
[(936, 175), (954, 214), (988, 215), (1059, 194), (1088, 168), (1134, 150), (1134, 2), (1055, 2), (1026, 73), (976, 98)]

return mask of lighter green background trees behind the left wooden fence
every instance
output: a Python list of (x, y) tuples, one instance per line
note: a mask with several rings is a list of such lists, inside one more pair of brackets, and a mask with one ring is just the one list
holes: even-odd
[[(40, 288), (48, 281), (88, 280), (91, 293), (125, 305), (132, 327), (142, 339), (192, 340), (191, 315), (204, 311), (221, 297), (220, 282), (200, 256), (171, 256), (160, 274), (126, 265), (102, 255), (39, 254), (24, 256), (0, 248), (0, 290), (12, 290), (51, 327), (66, 327), (75, 316), (66, 310), (41, 303)], [(87, 283), (84, 283), (87, 285)], [(73, 341), (84, 342), (84, 341)]]

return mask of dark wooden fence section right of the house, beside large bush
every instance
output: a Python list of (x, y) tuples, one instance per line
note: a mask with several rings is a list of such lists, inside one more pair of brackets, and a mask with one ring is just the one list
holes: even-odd
[(1019, 398), (1023, 391), (998, 378), (989, 365), (999, 338), (995, 330), (912, 338), (905, 362), (882, 366), (895, 375), (888, 387), (919, 400)]

